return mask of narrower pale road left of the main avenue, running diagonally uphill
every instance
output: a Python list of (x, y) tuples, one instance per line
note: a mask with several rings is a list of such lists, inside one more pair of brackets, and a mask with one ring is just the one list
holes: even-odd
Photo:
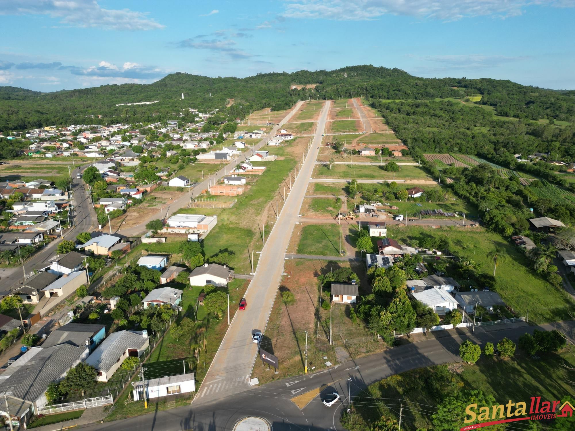
[[(237, 165), (243, 163), (244, 160), (254, 155), (255, 151), (258, 151), (258, 149), (262, 148), (263, 145), (267, 145), (267, 142), (273, 136), (275, 136), (277, 130), (281, 128), (287, 121), (289, 121), (289, 119), (293, 116), (293, 114), (296, 113), (298, 109), (300, 109), (302, 103), (304, 102), (297, 103), (296, 106), (293, 107), (292, 111), (290, 111), (290, 113), (287, 114), (287, 116), (283, 118), (282, 121), (279, 122), (279, 125), (275, 125), (270, 130), (270, 133), (267, 134), (261, 141), (259, 141), (259, 143), (255, 144), (248, 151), (242, 153), (241, 156), (235, 157), (235, 159), (233, 159), (230, 163), (228, 163), (226, 166), (224, 166), (214, 174), (206, 177), (206, 179), (201, 183), (198, 183), (195, 186), (191, 187), (191, 190), (189, 190), (188, 194), (185, 194), (181, 198), (176, 199), (174, 202), (171, 202), (170, 205), (163, 206), (162, 211), (160, 211), (159, 209), (151, 209), (151, 212), (148, 215), (148, 217), (145, 220), (143, 220), (139, 225), (128, 229), (118, 229), (116, 230), (116, 232), (124, 236), (140, 236), (141, 234), (147, 232), (147, 229), (145, 229), (145, 225), (147, 224), (148, 221), (155, 220), (162, 216), (164, 217), (164, 220), (166, 220), (173, 213), (175, 213), (175, 211), (179, 210), (182, 207), (185, 207), (188, 203), (190, 203), (191, 199), (197, 198), (204, 192), (204, 190), (208, 190), (209, 187), (211, 187), (213, 184), (216, 184), (225, 175), (228, 175), (233, 170), (233, 168), (235, 168)], [(160, 214), (162, 215), (160, 216)]]

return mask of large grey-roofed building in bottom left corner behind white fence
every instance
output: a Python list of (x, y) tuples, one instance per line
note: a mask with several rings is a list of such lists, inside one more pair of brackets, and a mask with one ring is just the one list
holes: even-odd
[(66, 377), (68, 370), (88, 354), (86, 346), (66, 343), (30, 348), (2, 373), (0, 392), (6, 394), (2, 410), (18, 418), (24, 428), (30, 415), (48, 404), (45, 395), (48, 385)]

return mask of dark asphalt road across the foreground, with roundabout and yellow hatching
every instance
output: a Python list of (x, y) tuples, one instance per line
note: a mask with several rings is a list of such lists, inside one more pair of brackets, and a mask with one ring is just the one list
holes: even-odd
[[(543, 325), (552, 329), (553, 325)], [(83, 427), (86, 431), (139, 431), (162, 430), (219, 431), (232, 429), (233, 424), (247, 415), (264, 417), (271, 422), (274, 431), (319, 431), (342, 430), (339, 418), (347, 409), (348, 388), (351, 378), (352, 396), (368, 384), (388, 376), (414, 368), (459, 361), (459, 344), (470, 338), (477, 343), (499, 342), (503, 337), (517, 341), (523, 333), (531, 333), (535, 326), (507, 325), (477, 328), (470, 333), (467, 328), (456, 331), (438, 331), (436, 337), (402, 345), (382, 353), (366, 356), (330, 367), (315, 374), (295, 376), (261, 387), (236, 393), (233, 384), (226, 384), (222, 392), (228, 395), (210, 403), (194, 402), (191, 406), (167, 411), (156, 411), (140, 417)], [(562, 330), (573, 340), (574, 322), (566, 322)], [(280, 359), (281, 360), (281, 359)], [(281, 364), (280, 364), (281, 366)], [(320, 390), (321, 394), (338, 391), (342, 403), (331, 408), (321, 403), (316, 396), (303, 409), (299, 409), (290, 398), (308, 391)], [(318, 391), (319, 392), (319, 391)]]

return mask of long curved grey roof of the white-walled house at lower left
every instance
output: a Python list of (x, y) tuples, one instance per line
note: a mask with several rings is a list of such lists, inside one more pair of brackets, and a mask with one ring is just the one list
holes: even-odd
[(127, 349), (140, 350), (147, 342), (148, 337), (144, 337), (141, 332), (114, 332), (88, 356), (86, 364), (92, 365), (96, 370), (108, 372)]

